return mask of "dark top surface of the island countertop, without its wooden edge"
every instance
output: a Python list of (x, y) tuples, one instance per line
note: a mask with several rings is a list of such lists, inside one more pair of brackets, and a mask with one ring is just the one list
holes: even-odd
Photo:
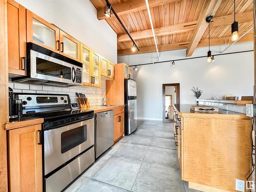
[[(219, 109), (219, 112), (195, 112), (193, 110), (190, 110), (191, 105), (196, 104), (174, 104), (174, 107), (177, 109), (179, 113), (197, 113), (197, 114), (222, 114), (222, 115), (245, 115), (243, 113), (233, 112), (233, 111), (226, 111)], [(204, 106), (199, 104), (199, 106)]]

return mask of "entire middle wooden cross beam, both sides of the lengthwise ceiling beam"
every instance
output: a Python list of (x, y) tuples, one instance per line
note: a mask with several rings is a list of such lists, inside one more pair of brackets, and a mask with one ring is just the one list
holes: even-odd
[[(236, 14), (236, 20), (239, 24), (245, 23), (245, 22), (252, 22), (253, 21), (253, 12), (243, 12), (243, 13), (237, 13)], [(225, 15), (220, 17), (214, 17), (211, 22), (211, 27), (218, 27), (218, 26), (226, 26), (231, 25), (234, 22), (234, 15)], [(197, 27), (197, 21), (195, 22), (188, 22), (184, 24), (177, 24), (172, 26), (166, 26), (166, 27), (160, 27), (155, 28), (155, 34), (156, 36), (163, 36), (163, 35), (171, 35), (176, 33), (183, 33), (190, 30), (195, 30)], [(152, 30), (143, 30), (138, 32), (132, 32), (130, 33), (133, 39), (143, 39), (143, 38), (151, 38), (153, 37)], [(123, 41), (130, 41), (130, 37), (125, 33), (118, 35), (117, 41), (123, 42)]]

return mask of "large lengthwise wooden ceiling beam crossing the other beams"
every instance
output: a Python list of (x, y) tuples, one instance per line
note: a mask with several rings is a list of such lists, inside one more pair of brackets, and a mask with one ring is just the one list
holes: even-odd
[(199, 41), (201, 40), (205, 30), (208, 27), (208, 23), (206, 23), (205, 18), (209, 15), (214, 16), (217, 12), (218, 8), (221, 5), (222, 0), (206, 0), (203, 6), (203, 10), (198, 19), (198, 25), (196, 30), (194, 31), (189, 45), (187, 47), (186, 55), (187, 57), (191, 56), (194, 50), (197, 48)]

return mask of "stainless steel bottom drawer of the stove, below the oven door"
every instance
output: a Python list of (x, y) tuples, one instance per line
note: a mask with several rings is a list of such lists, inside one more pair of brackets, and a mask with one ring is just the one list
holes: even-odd
[(47, 192), (59, 192), (94, 162), (94, 147), (46, 179)]

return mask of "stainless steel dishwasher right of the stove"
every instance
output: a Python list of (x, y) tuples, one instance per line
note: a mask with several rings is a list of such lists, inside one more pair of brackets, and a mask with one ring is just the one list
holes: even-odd
[(95, 114), (96, 158), (114, 144), (114, 110)]

